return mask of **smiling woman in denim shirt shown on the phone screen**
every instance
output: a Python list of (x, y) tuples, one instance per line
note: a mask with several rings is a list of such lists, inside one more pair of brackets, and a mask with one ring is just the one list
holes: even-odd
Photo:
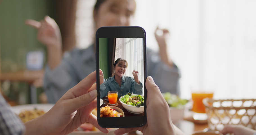
[[(100, 98), (107, 96), (108, 91), (117, 91), (117, 95), (124, 96), (128, 93), (142, 94), (142, 83), (139, 80), (139, 72), (133, 70), (133, 77), (125, 76), (128, 62), (125, 59), (118, 58), (113, 65), (113, 77), (109, 77), (100, 85)], [(100, 70), (101, 79), (103, 72)]]

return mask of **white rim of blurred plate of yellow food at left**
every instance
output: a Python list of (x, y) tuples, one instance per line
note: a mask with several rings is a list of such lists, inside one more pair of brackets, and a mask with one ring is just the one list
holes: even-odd
[(27, 104), (27, 105), (16, 105), (12, 106), (11, 109), (14, 111), (14, 113), (19, 114), (22, 110), (43, 110), (44, 112), (48, 112), (54, 104)]

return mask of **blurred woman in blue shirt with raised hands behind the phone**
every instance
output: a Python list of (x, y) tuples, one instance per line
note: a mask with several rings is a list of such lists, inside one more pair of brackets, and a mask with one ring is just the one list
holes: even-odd
[[(95, 31), (102, 26), (129, 26), (135, 8), (134, 0), (97, 0), (93, 10)], [(37, 39), (47, 47), (44, 89), (48, 102), (54, 104), (68, 89), (95, 71), (95, 43), (83, 50), (75, 48), (62, 59), (61, 34), (53, 19), (46, 16), (40, 22), (27, 20), (26, 24), (38, 29)], [(159, 52), (147, 49), (147, 76), (154, 78), (162, 93), (179, 95), (179, 70), (167, 55), (166, 34), (169, 31), (162, 31), (162, 36), (155, 33)]]

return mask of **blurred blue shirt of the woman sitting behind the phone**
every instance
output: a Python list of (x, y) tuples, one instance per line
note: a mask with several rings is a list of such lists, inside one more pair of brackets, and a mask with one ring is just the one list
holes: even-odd
[[(69, 89), (96, 70), (94, 45), (86, 49), (73, 49), (64, 54), (55, 69), (45, 68), (44, 91), (48, 102), (55, 104)], [(164, 64), (158, 53), (147, 48), (147, 76), (154, 79), (162, 93), (179, 95), (179, 69)]]

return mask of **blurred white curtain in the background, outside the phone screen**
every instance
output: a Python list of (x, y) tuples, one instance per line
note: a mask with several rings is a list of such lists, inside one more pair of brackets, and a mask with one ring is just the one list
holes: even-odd
[[(79, 1), (93, 8), (91, 0)], [(154, 50), (156, 27), (169, 29), (168, 55), (181, 70), (182, 98), (191, 98), (195, 84), (214, 88), (215, 98), (256, 98), (255, 7), (255, 0), (136, 0), (132, 26), (145, 29), (147, 47)], [(92, 19), (89, 8), (78, 15)], [(77, 30), (91, 33), (92, 21), (86, 21)], [(87, 37), (80, 36), (86, 41), (81, 45)]]

